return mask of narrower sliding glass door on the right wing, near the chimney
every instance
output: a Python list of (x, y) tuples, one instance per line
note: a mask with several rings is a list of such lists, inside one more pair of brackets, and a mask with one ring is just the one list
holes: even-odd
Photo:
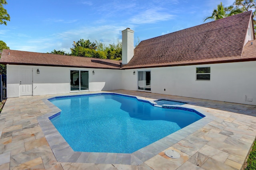
[(150, 71), (138, 71), (138, 90), (151, 91)]

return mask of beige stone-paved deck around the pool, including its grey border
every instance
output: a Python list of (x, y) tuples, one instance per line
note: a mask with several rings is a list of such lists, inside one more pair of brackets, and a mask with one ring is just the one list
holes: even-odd
[[(129, 155), (74, 152), (44, 119), (58, 112), (46, 99), (60, 95), (8, 98), (0, 114), (0, 169), (239, 170), (256, 137), (256, 106), (128, 90), (110, 92), (188, 102), (183, 106), (206, 117)], [(61, 96), (66, 95), (73, 93)], [(181, 157), (168, 158), (166, 149), (176, 150)]]

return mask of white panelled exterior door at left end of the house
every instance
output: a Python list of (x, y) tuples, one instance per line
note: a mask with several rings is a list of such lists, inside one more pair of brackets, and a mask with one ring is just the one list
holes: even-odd
[(20, 96), (32, 95), (32, 68), (20, 68)]

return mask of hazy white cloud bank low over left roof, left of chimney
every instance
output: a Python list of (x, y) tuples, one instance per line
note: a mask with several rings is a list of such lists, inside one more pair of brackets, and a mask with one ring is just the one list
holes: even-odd
[[(102, 42), (106, 45), (116, 43), (121, 38), (121, 31), (126, 27), (102, 25), (97, 27), (81, 27), (61, 33), (39, 37), (38, 39), (24, 39), (22, 43), (16, 44), (16, 50), (34, 51), (40, 53), (51, 52), (54, 49), (70, 53), (73, 41), (89, 39), (91, 42)], [(122, 40), (120, 40), (122, 41)], [(24, 45), (21, 45), (24, 44)]]

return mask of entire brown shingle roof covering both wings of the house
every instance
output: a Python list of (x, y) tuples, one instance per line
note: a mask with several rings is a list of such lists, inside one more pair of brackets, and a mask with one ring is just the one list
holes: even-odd
[[(256, 61), (256, 41), (244, 46), (252, 11), (141, 41), (131, 61), (4, 49), (2, 64), (132, 69)], [(253, 24), (253, 23), (252, 23)], [(252, 25), (253, 26), (253, 25)], [(255, 38), (255, 37), (254, 37)]]

